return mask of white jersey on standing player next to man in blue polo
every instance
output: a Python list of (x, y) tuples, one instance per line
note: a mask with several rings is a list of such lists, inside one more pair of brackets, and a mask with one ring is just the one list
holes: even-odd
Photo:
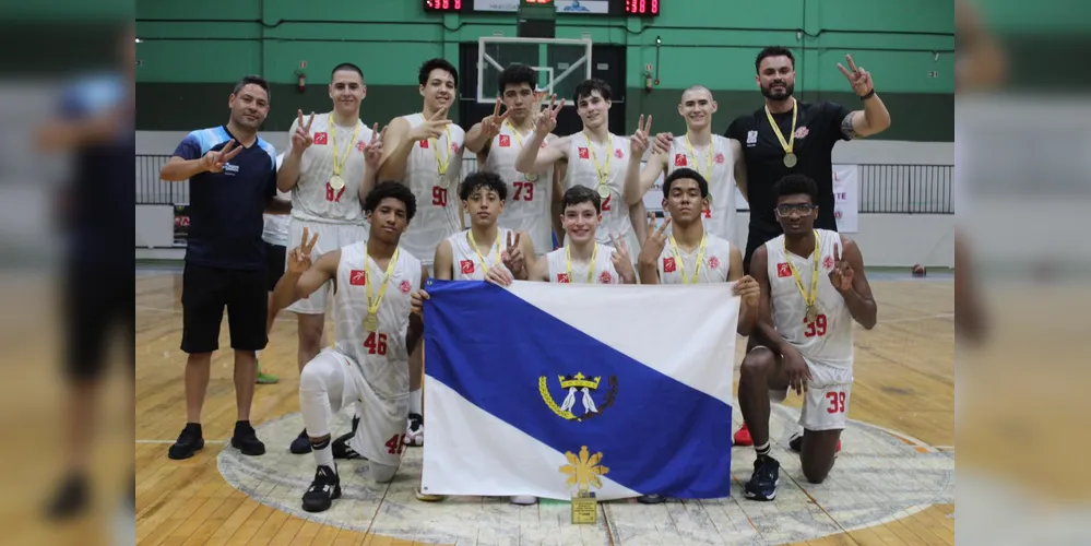
[[(289, 134), (298, 126), (297, 119)], [(327, 112), (315, 115), (310, 132), (315, 143), (304, 151), (299, 162), (299, 182), (292, 192), (292, 216), (332, 224), (364, 224), (359, 193), (367, 171), (364, 149), (371, 142), (371, 129), (360, 120), (355, 127), (333, 126), (331, 114)], [(330, 185), (334, 153), (337, 164), (343, 164), (341, 179), (345, 186), (340, 190)]]

